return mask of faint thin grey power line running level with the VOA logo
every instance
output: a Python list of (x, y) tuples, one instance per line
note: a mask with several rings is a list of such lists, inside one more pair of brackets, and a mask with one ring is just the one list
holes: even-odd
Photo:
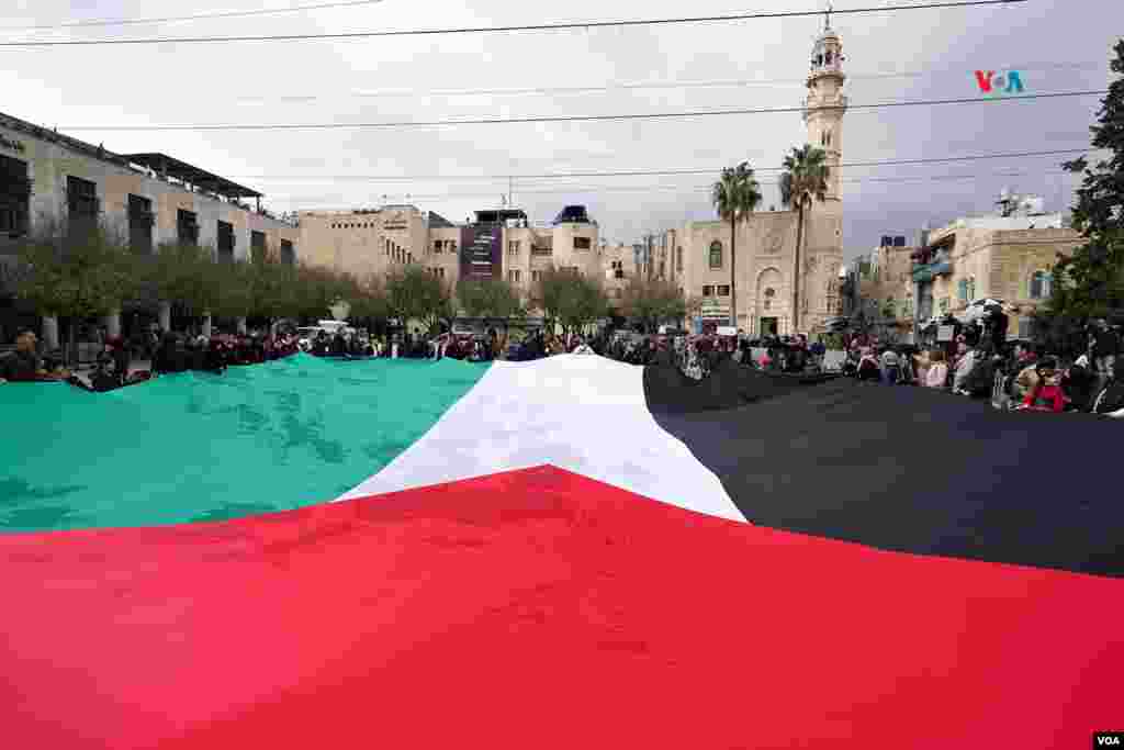
[[(1084, 63), (1031, 63), (1024, 65), (1008, 65), (1010, 70), (1017, 71), (1042, 71), (1042, 70), (1059, 70), (1059, 69), (1081, 69), (1088, 70), (1093, 67), (1100, 67), (1104, 65), (1104, 61), (1089, 61)], [(962, 71), (961, 71), (962, 72)], [(923, 75), (930, 75), (931, 71), (906, 71), (898, 73), (847, 73), (847, 80), (851, 81), (864, 81), (864, 80), (892, 80), (903, 78), (922, 78)], [(651, 81), (651, 82), (634, 82), (634, 83), (614, 83), (609, 85), (582, 85), (582, 87), (528, 87), (520, 89), (435, 89), (429, 91), (419, 91), (416, 89), (399, 89), (399, 90), (383, 90), (383, 91), (350, 91), (341, 92), (338, 94), (328, 96), (316, 96), (316, 94), (293, 94), (293, 96), (280, 96), (280, 97), (254, 97), (247, 99), (237, 99), (235, 103), (245, 102), (266, 102), (266, 101), (288, 101), (288, 102), (308, 102), (308, 101), (323, 101), (326, 99), (336, 98), (348, 98), (348, 99), (384, 99), (384, 98), (406, 98), (406, 99), (428, 99), (433, 97), (505, 97), (505, 96), (526, 96), (526, 94), (566, 94), (566, 93), (601, 93), (607, 91), (636, 91), (636, 90), (649, 90), (649, 89), (733, 89), (733, 88), (749, 88), (749, 87), (768, 87), (768, 85), (791, 85), (794, 83), (804, 84), (807, 78), (789, 78), (789, 79), (761, 79), (761, 80), (714, 80), (714, 81)]]

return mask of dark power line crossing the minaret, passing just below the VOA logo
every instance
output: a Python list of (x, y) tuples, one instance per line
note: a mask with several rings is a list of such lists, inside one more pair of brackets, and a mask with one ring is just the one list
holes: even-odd
[[(1022, 1), (1022, 0), (1018, 0)], [(960, 99), (928, 99), (922, 101), (882, 101), (871, 105), (846, 105), (846, 107), (816, 107), (817, 110), (847, 109), (847, 110), (870, 110), (883, 109), (888, 107), (923, 107), (933, 105), (971, 105), (979, 102), (1007, 102), (1026, 101), (1030, 99), (1058, 99), (1064, 97), (1091, 97), (1107, 93), (1106, 90), (1098, 91), (1060, 91), (1053, 93), (1027, 93), (1013, 97), (972, 97)], [(790, 112), (804, 112), (808, 109), (800, 107), (773, 107), (763, 109), (719, 109), (698, 110), (687, 112), (649, 112), (632, 115), (564, 115), (545, 117), (513, 117), (513, 118), (483, 118), (469, 120), (402, 120), (397, 123), (314, 123), (308, 125), (273, 124), (273, 125), (109, 125), (109, 126), (76, 126), (66, 127), (66, 130), (99, 130), (116, 133), (137, 133), (156, 130), (342, 130), (351, 128), (411, 128), (411, 127), (437, 127), (454, 125), (528, 125), (543, 123), (600, 123), (611, 120), (659, 120), (659, 119), (681, 119), (691, 117), (717, 117), (724, 115), (778, 115)]]

